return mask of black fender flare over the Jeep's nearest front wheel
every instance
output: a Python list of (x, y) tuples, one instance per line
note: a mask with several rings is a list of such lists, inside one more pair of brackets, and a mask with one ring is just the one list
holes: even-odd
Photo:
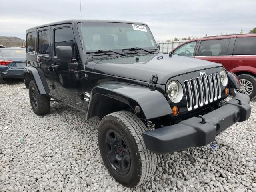
[[(150, 120), (172, 114), (172, 109), (164, 97), (157, 90), (148, 87), (124, 83), (106, 83), (92, 89), (86, 119), (92, 117), (94, 102), (97, 95), (103, 95), (130, 106), (138, 118)], [(135, 112), (135, 106), (140, 107), (140, 112)]]

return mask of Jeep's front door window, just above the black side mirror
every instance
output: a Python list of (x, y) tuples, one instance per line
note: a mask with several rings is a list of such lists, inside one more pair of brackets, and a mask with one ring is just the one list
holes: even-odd
[(54, 55), (57, 46), (71, 46), (73, 49), (73, 32), (71, 28), (59, 28), (54, 30)]

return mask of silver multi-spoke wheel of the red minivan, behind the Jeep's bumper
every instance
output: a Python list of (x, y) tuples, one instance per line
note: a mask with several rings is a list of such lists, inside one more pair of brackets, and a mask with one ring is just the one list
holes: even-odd
[(236, 93), (243, 93), (254, 99), (256, 96), (256, 78), (249, 74), (238, 75), (241, 86), (239, 89), (230, 89), (230, 93), (236, 96)]

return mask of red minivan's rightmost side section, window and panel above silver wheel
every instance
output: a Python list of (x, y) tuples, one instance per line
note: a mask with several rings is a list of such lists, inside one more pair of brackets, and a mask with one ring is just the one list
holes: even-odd
[(255, 67), (256, 36), (237, 37), (232, 57), (232, 68), (255, 73)]

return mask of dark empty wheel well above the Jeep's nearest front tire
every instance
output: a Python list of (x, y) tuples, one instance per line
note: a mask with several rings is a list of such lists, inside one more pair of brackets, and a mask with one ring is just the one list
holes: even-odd
[(104, 96), (101, 94), (96, 94), (92, 98), (92, 106), (90, 106), (91, 110), (88, 111), (88, 118), (98, 117), (100, 120), (106, 116), (107, 114), (117, 112), (117, 111), (129, 111), (134, 113), (132, 107), (128, 104), (121, 102), (119, 100), (110, 98), (108, 96)]

